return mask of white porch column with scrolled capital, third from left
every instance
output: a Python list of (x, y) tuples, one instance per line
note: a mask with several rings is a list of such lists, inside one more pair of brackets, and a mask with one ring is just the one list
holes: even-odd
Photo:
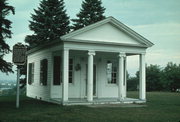
[(119, 100), (124, 100), (124, 57), (125, 53), (119, 53), (119, 86), (118, 86), (118, 97)]

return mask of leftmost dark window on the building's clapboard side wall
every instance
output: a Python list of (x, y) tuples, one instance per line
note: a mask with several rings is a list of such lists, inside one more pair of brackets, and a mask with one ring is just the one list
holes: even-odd
[(34, 82), (34, 63), (29, 63), (28, 83), (32, 84), (33, 82)]

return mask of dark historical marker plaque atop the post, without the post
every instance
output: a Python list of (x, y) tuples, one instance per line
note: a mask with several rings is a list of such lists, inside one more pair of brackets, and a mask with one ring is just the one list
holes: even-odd
[(13, 63), (16, 65), (24, 65), (26, 62), (27, 48), (21, 43), (17, 43), (13, 46)]

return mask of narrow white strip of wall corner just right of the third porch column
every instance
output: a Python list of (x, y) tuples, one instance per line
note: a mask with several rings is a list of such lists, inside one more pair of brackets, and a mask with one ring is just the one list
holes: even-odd
[(124, 97), (127, 96), (127, 57), (124, 57)]

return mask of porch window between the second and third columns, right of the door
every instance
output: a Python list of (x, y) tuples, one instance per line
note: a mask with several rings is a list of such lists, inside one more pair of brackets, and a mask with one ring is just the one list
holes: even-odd
[(116, 65), (116, 63), (108, 61), (106, 71), (107, 71), (108, 84), (116, 84), (117, 83), (117, 65)]

